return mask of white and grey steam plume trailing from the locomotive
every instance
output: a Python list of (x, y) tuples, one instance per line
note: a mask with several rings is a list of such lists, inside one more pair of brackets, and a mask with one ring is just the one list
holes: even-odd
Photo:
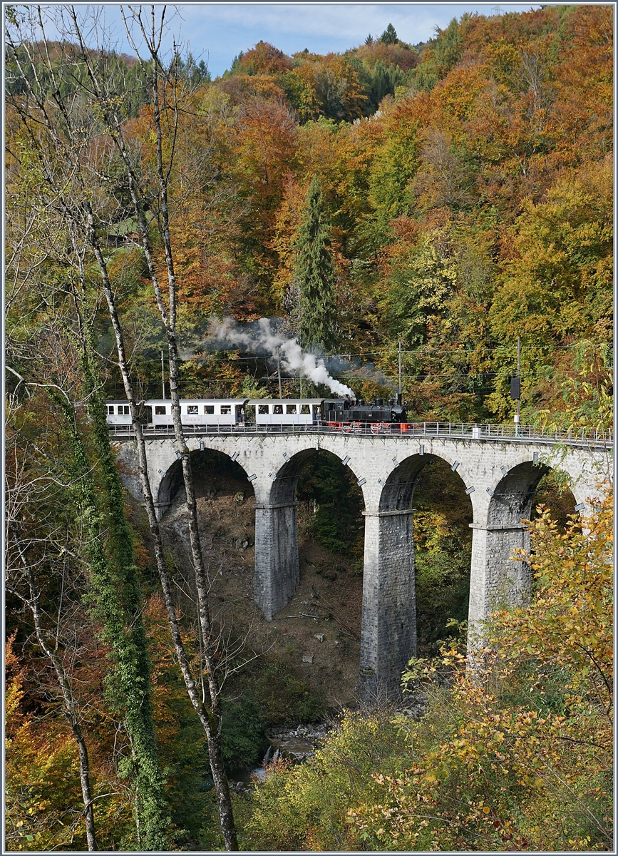
[(252, 324), (250, 330), (241, 330), (233, 318), (225, 318), (223, 322), (213, 319), (209, 332), (211, 341), (244, 348), (253, 354), (267, 354), (273, 360), (278, 356), (288, 372), (299, 372), (313, 383), (324, 383), (334, 395), (355, 397), (349, 386), (330, 377), (321, 357), (307, 354), (296, 339), (284, 339), (273, 333), (269, 318), (260, 318), (256, 324)]

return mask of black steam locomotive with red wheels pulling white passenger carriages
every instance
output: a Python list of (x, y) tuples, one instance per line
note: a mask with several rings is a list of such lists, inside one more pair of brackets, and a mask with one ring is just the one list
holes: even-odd
[[(407, 409), (401, 393), (395, 399), (364, 401), (354, 398), (182, 398), (181, 424), (204, 431), (244, 429), (255, 425), (264, 431), (288, 427), (324, 426), (330, 431), (391, 433), (407, 429)], [(172, 427), (169, 399), (140, 401), (142, 419), (152, 428)], [(127, 401), (107, 401), (110, 426), (131, 425)], [(410, 425), (412, 427), (412, 425)]]

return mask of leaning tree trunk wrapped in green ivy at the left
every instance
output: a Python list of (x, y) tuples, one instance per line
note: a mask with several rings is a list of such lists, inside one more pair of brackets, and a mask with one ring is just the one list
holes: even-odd
[[(47, 201), (51, 203), (50, 208), (52, 211), (60, 212), (59, 217), (63, 233), (65, 229), (68, 228), (70, 231), (72, 228), (70, 239), (74, 243), (75, 253), (79, 259), (80, 275), (83, 278), (84, 250), (83, 247), (79, 248), (79, 245), (83, 245), (86, 239), (87, 247), (90, 237), (89, 229), (91, 229), (93, 223), (92, 207), (89, 201), (90, 190), (92, 188), (87, 186), (82, 166), (83, 158), (85, 157), (84, 140), (80, 140), (79, 133), (74, 134), (73, 122), (75, 121), (75, 117), (72, 112), (74, 99), (63, 98), (61, 93), (62, 86), (60, 85), (62, 81), (57, 80), (57, 69), (54, 68), (51, 62), (45, 41), (44, 45), (45, 61), (47, 64), (46, 71), (49, 73), (56, 89), (56, 92), (51, 96), (51, 98), (55, 99), (54, 104), (52, 106), (50, 99), (47, 97), (46, 87), (40, 86), (39, 80), (36, 78), (36, 63), (33, 62), (33, 56), (30, 55), (29, 60), (33, 68), (35, 80), (33, 83), (28, 79), (27, 69), (24, 68), (21, 62), (20, 69), (23, 80), (26, 81), (28, 98), (15, 99), (14, 106), (17, 115), (21, 118), (22, 129), (27, 137), (29, 137), (30, 143), (33, 146), (33, 152), (39, 158), (43, 185), (46, 195), (49, 194), (47, 195)], [(12, 46), (15, 51), (15, 45)], [(28, 50), (27, 47), (26, 50)], [(61, 114), (60, 122), (57, 121), (58, 111)], [(79, 110), (77, 113), (79, 120)], [(45, 130), (42, 132), (41, 128)], [(92, 354), (86, 354), (88, 350), (86, 347), (87, 343), (83, 337), (80, 344), (84, 348), (84, 358), (86, 360), (83, 363), (83, 367), (92, 369), (92, 365), (88, 365), (88, 360), (92, 358)], [(86, 392), (86, 400), (89, 403), (92, 415), (92, 391), (96, 383), (94, 376), (89, 378), (85, 375), (85, 379), (86, 386), (90, 387)], [(92, 383), (90, 383), (91, 380)], [(135, 418), (134, 402), (132, 406)], [(95, 423), (96, 421), (95, 419)], [(100, 431), (98, 431), (97, 438), (100, 443)], [(80, 447), (80, 451), (83, 453), (81, 440), (76, 431), (74, 432), (74, 440), (75, 449)], [(106, 442), (109, 453), (109, 440), (106, 440)], [(101, 461), (103, 464), (105, 462), (110, 463), (110, 461), (105, 461), (104, 456), (101, 456)], [(78, 484), (83, 485), (84, 490), (87, 491), (86, 483), (90, 483), (88, 474), (90, 468), (87, 464), (85, 453), (81, 455), (79, 463), (83, 466), (81, 467), (82, 472), (78, 476)], [(112, 467), (112, 470), (114, 470), (113, 474), (116, 474), (115, 467)], [(106, 475), (109, 476), (110, 472), (110, 467), (108, 466)], [(106, 480), (106, 487), (110, 488), (109, 478)], [(108, 498), (111, 502), (112, 497), (109, 490)], [(91, 490), (90, 496), (86, 500), (87, 509), (85, 519), (87, 520), (86, 525), (90, 525), (93, 528), (96, 528), (100, 522), (95, 505), (94, 493)], [(116, 537), (116, 544), (114, 544), (116, 548), (119, 546), (120, 541), (122, 541), (122, 532), (120, 532), (120, 527), (117, 525), (119, 516), (122, 517), (122, 510), (118, 514), (118, 509), (112, 508), (112, 523), (116, 523), (116, 526), (110, 526), (110, 529), (112, 530), (112, 536)], [(152, 723), (150, 667), (146, 635), (143, 632), (141, 624), (140, 604), (138, 600), (139, 591), (133, 575), (134, 561), (133, 557), (131, 557), (123, 563), (120, 555), (122, 553), (122, 556), (126, 560), (128, 549), (133, 550), (130, 533), (128, 528), (125, 527), (125, 529), (124, 534), (126, 538), (122, 544), (124, 549), (112, 550), (110, 563), (105, 561), (103, 545), (98, 543), (98, 532), (94, 533), (93, 537), (88, 541), (88, 550), (91, 553), (95, 550), (97, 551), (94, 561), (91, 562), (92, 579), (96, 578), (97, 581), (97, 606), (104, 613), (105, 633), (109, 633), (115, 655), (118, 657), (119, 668), (117, 669), (117, 674), (120, 676), (123, 693), (120, 704), (123, 705), (125, 712), (125, 724), (136, 762), (133, 776), (134, 786), (140, 792), (142, 808), (140, 835), (142, 846), (146, 849), (160, 850), (168, 845), (167, 828), (169, 817), (167, 817), (165, 805), (163, 776), (161, 776), (157, 758), (156, 734)], [(121, 603), (120, 600), (116, 600), (116, 595), (119, 595), (120, 592), (114, 589), (113, 586), (112, 577), (114, 576), (114, 569), (112, 569), (111, 574), (108, 573), (115, 561), (115, 572), (121, 574), (123, 583), (126, 583), (126, 586), (121, 587), (123, 594), (127, 594), (130, 603), (124, 601)], [(108, 567), (108, 564), (110, 567)], [(139, 782), (141, 782), (140, 787)]]

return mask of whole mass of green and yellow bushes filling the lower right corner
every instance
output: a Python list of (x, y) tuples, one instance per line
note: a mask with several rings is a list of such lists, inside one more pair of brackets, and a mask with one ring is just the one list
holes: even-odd
[(344, 711), (315, 759), (273, 765), (243, 848), (611, 850), (611, 508), (530, 524), (532, 604), (492, 615), (472, 669), (457, 645), (411, 663), (419, 721)]

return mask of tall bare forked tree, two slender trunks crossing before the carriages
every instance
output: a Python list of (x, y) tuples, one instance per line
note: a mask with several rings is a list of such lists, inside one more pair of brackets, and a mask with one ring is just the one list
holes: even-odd
[[(160, 37), (162, 31), (161, 29), (159, 29), (159, 32), (156, 32), (154, 8), (152, 8), (152, 35), (150, 39), (148, 33), (146, 32), (147, 27), (144, 27), (141, 18), (141, 9), (136, 11), (132, 10), (132, 14), (134, 15), (135, 20), (140, 23), (142, 32), (146, 36), (146, 44), (148, 45), (150, 59), (152, 60), (152, 98), (155, 115), (154, 124), (155, 131), (157, 134), (157, 183), (159, 186), (158, 199), (160, 202), (158, 224), (165, 252), (165, 262), (168, 280), (167, 296), (169, 299), (169, 309), (165, 306), (165, 302), (163, 300), (161, 288), (157, 277), (157, 267), (153, 258), (152, 247), (149, 238), (149, 227), (146, 221), (147, 206), (144, 187), (140, 184), (140, 175), (134, 168), (130, 148), (127, 146), (126, 141), (123, 137), (123, 123), (118, 108), (118, 101), (115, 98), (108, 98), (110, 93), (107, 92), (105, 89), (105, 86), (107, 86), (107, 81), (104, 78), (101, 79), (98, 76), (98, 69), (96, 68), (95, 62), (92, 58), (93, 53), (90, 49), (86, 48), (86, 43), (83, 39), (80, 29), (80, 23), (77, 20), (77, 15), (75, 13), (74, 7), (68, 8), (68, 15), (71, 21), (73, 22), (74, 32), (67, 32), (65, 34), (65, 37), (71, 43), (74, 44), (75, 42), (77, 42), (77, 44), (79, 45), (79, 59), (81, 63), (81, 68), (85, 69), (88, 77), (88, 85), (86, 86), (86, 83), (83, 84), (82, 95), (86, 97), (88, 101), (94, 101), (96, 104), (98, 104), (98, 107), (100, 108), (98, 117), (104, 122), (104, 125), (107, 127), (108, 133), (110, 134), (110, 139), (113, 140), (116, 144), (116, 150), (119, 152), (120, 157), (122, 158), (122, 163), (124, 164), (128, 181), (128, 190), (133, 202), (134, 214), (137, 217), (139, 223), (139, 231), (142, 238), (141, 244), (143, 252), (145, 253), (146, 263), (148, 265), (149, 274), (152, 280), (152, 287), (157, 299), (157, 306), (159, 308), (159, 312), (161, 313), (161, 318), (168, 341), (170, 389), (172, 393), (171, 397), (172, 413), (175, 425), (175, 441), (177, 443), (179, 451), (181, 452), (182, 474), (185, 482), (185, 488), (187, 491), (187, 516), (189, 522), (193, 565), (195, 568), (196, 591), (198, 600), (199, 635), (201, 639), (200, 649), (203, 652), (204, 670), (203, 673), (200, 673), (199, 675), (199, 687), (196, 681), (193, 680), (193, 676), (191, 674), (187, 654), (184, 650), (184, 646), (181, 640), (181, 633), (178, 625), (177, 616), (175, 614), (175, 603), (169, 580), (169, 572), (163, 555), (163, 541), (161, 538), (160, 528), (158, 526), (154, 498), (152, 496), (152, 490), (148, 479), (146, 443), (138, 419), (134, 388), (129, 372), (128, 356), (123, 341), (122, 324), (118, 317), (116, 299), (113, 292), (113, 288), (110, 284), (110, 276), (108, 274), (104, 253), (102, 251), (102, 247), (98, 237), (97, 217), (95, 216), (95, 212), (93, 210), (91, 202), (91, 188), (88, 187), (88, 183), (84, 175), (80, 173), (80, 158), (78, 157), (77, 160), (74, 160), (74, 154), (72, 154), (72, 152), (74, 151), (83, 151), (84, 158), (87, 158), (86, 149), (82, 148), (80, 150), (80, 146), (83, 146), (83, 143), (80, 143), (80, 134), (75, 135), (73, 133), (70, 115), (70, 105), (62, 101), (62, 95), (59, 94), (60, 87), (56, 87), (57, 92), (52, 96), (52, 98), (55, 101), (56, 108), (60, 110), (62, 116), (62, 127), (64, 128), (63, 133), (68, 135), (68, 145), (64, 144), (62, 134), (59, 134), (59, 132), (57, 131), (53, 110), (46, 109), (46, 96), (45, 98), (39, 98), (38, 100), (35, 98), (34, 103), (40, 110), (41, 119), (43, 120), (43, 126), (47, 128), (47, 132), (50, 134), (51, 139), (55, 140), (55, 142), (57, 142), (58, 144), (58, 151), (56, 152), (56, 161), (54, 163), (54, 169), (56, 169), (58, 158), (62, 160), (62, 151), (65, 152), (66, 157), (68, 159), (68, 163), (74, 163), (75, 165), (74, 174), (71, 176), (71, 182), (68, 183), (66, 188), (62, 187), (62, 189), (60, 189), (57, 186), (54, 169), (49, 169), (47, 171), (47, 176), (48, 180), (50, 181), (50, 187), (58, 194), (57, 200), (62, 206), (64, 216), (70, 218), (70, 220), (74, 223), (74, 226), (78, 231), (79, 229), (83, 229), (86, 241), (88, 245), (92, 248), (92, 252), (94, 253), (94, 256), (98, 262), (98, 268), (100, 270), (101, 279), (103, 282), (104, 295), (107, 302), (114, 335), (116, 338), (118, 365), (120, 367), (122, 383), (125, 389), (125, 394), (127, 396), (132, 415), (135, 441), (137, 445), (138, 472), (140, 477), (140, 484), (144, 495), (146, 514), (148, 516), (150, 531), (152, 535), (152, 544), (155, 554), (155, 560), (157, 562), (157, 570), (159, 578), (161, 580), (166, 609), (168, 611), (170, 633), (175, 647), (176, 656), (178, 657), (178, 663), (181, 668), (181, 673), (185, 681), (185, 685), (187, 687), (187, 694), (191, 699), (193, 707), (199, 716), (203, 728), (205, 729), (205, 734), (208, 740), (209, 759), (211, 763), (212, 776), (217, 792), (217, 804), (219, 808), (219, 816), (221, 821), (221, 829), (223, 831), (225, 847), (228, 850), (237, 850), (238, 843), (236, 839), (234, 817), (232, 813), (229, 784), (227, 782), (227, 777), (225, 776), (223, 766), (223, 753), (221, 750), (221, 687), (219, 686), (217, 678), (217, 660), (219, 660), (219, 658), (216, 656), (220, 653), (220, 651), (218, 650), (219, 642), (215, 634), (213, 633), (211, 627), (211, 616), (208, 603), (208, 583), (205, 574), (205, 565), (201, 553), (201, 545), (199, 543), (197, 509), (193, 489), (193, 473), (191, 470), (189, 452), (183, 437), (180, 419), (180, 396), (178, 386), (178, 348), (175, 335), (175, 271), (171, 240), (169, 235), (168, 213), (169, 171), (174, 161), (174, 129), (176, 127), (175, 122), (177, 122), (178, 118), (178, 104), (175, 101), (176, 93), (174, 81), (172, 80), (170, 83), (169, 79), (165, 76), (165, 74), (163, 74), (163, 78), (160, 76), (163, 72), (163, 66), (161, 64), (159, 56), (159, 48), (161, 44)], [(161, 16), (161, 27), (163, 26), (163, 15), (164, 9), (163, 14)], [(39, 20), (42, 27), (43, 21), (41, 19), (40, 11)], [(35, 64), (36, 63), (33, 63), (33, 67), (35, 66)], [(54, 80), (54, 70), (52, 68), (49, 56), (47, 56), (47, 65), (48, 70), (51, 73), (52, 80)], [(23, 70), (24, 69), (22, 68), (22, 74)], [(24, 77), (26, 78), (25, 74)], [(41, 92), (44, 91), (43, 86), (39, 86), (39, 88), (41, 89)], [(169, 104), (167, 102), (163, 104), (163, 110), (167, 110), (168, 115), (171, 114), (173, 119), (173, 128), (170, 139), (171, 155), (169, 156), (168, 163), (164, 163), (163, 159), (163, 129), (161, 119), (162, 106), (160, 104), (160, 97), (162, 92), (163, 99), (170, 97), (173, 99), (173, 104), (171, 105), (171, 107), (169, 107)], [(26, 122), (26, 127), (28, 127), (27, 113), (24, 113), (23, 118)], [(29, 129), (27, 130), (27, 134), (31, 134)], [(35, 146), (36, 151), (39, 152), (39, 160), (44, 167), (45, 175), (45, 158), (47, 156), (45, 152), (42, 152), (41, 150), (41, 141), (33, 134), (31, 134), (31, 139), (33, 140), (33, 144)], [(96, 167), (92, 175), (95, 174)]]

